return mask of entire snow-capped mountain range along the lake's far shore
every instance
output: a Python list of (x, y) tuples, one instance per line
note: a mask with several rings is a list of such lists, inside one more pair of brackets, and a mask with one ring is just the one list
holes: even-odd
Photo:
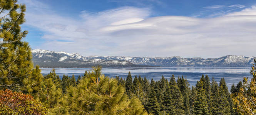
[[(139, 58), (125, 56), (81, 56), (78, 53), (54, 52), (33, 49), (33, 62), (41, 67), (251, 67), (255, 57), (227, 55), (221, 58), (182, 58), (172, 56), (167, 58)], [(42, 66), (43, 65), (43, 66)], [(52, 66), (50, 66), (52, 65)], [(141, 65), (141, 66), (139, 66)]]

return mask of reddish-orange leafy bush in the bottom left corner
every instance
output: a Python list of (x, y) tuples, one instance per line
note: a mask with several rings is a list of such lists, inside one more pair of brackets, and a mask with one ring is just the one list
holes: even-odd
[(0, 115), (44, 115), (47, 108), (31, 95), (0, 90)]

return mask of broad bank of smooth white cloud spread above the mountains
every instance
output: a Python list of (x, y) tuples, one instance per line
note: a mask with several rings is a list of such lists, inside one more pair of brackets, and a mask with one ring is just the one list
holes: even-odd
[(49, 7), (27, 6), (25, 25), (45, 33), (42, 39), (46, 42), (37, 47), (41, 49), (84, 56), (209, 58), (255, 54), (255, 7), (216, 18), (149, 17), (148, 8), (121, 7), (97, 13), (82, 11), (78, 20), (60, 16)]

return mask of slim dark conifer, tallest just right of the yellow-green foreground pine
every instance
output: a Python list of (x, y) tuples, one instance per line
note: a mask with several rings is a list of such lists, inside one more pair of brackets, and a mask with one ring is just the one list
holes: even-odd
[(133, 92), (134, 92), (131, 72), (129, 72), (129, 74), (126, 78), (125, 89), (126, 89), (127, 96), (129, 97), (129, 99), (131, 99), (133, 97)]

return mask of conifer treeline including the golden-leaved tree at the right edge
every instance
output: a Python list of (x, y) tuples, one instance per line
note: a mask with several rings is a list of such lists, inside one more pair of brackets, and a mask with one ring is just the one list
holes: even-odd
[(129, 98), (137, 97), (148, 113), (154, 115), (255, 115), (256, 114), (256, 59), (251, 67), (251, 82), (233, 84), (228, 90), (224, 77), (217, 83), (214, 77), (202, 75), (196, 86), (190, 87), (186, 78), (174, 75), (160, 81), (149, 81), (131, 72), (126, 80), (116, 76)]

